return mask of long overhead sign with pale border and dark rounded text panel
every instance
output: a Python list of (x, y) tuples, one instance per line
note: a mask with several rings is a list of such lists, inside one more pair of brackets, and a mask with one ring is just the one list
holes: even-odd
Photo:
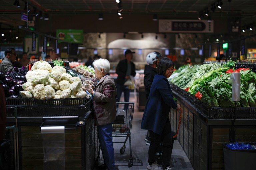
[(213, 33), (213, 21), (159, 20), (160, 33)]

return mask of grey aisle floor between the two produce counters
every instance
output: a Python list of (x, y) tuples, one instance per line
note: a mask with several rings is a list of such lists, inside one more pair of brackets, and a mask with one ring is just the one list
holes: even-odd
[[(123, 95), (121, 100), (123, 101)], [(126, 142), (126, 149), (123, 154), (120, 154), (120, 148), (123, 143), (114, 143), (114, 151), (115, 151), (115, 165), (116, 170), (146, 170), (148, 165), (148, 148), (146, 145), (144, 138), (146, 137), (147, 130), (143, 130), (140, 128), (141, 120), (143, 112), (138, 111), (137, 107), (137, 98), (134, 92), (130, 93), (130, 102), (134, 102), (134, 114), (133, 114), (133, 122), (132, 122), (132, 131), (131, 131), (131, 145), (132, 145), (132, 157), (133, 157), (133, 166), (128, 167), (128, 160), (130, 158), (130, 145), (129, 139)], [(113, 141), (121, 141), (123, 142), (125, 137), (114, 137)], [(102, 155), (100, 165), (103, 164)], [(171, 168), (172, 170), (194, 170), (188, 157), (183, 151), (180, 143), (178, 141), (174, 141), (173, 150), (172, 150), (172, 158), (171, 158)], [(95, 170), (97, 170), (95, 168)]]

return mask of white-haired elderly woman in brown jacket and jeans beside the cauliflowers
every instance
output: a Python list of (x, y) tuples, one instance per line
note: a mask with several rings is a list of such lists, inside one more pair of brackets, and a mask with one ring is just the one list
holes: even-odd
[(107, 59), (93, 62), (96, 78), (94, 90), (83, 86), (93, 96), (94, 119), (96, 122), (100, 147), (104, 163), (109, 170), (115, 170), (114, 148), (112, 140), (112, 123), (116, 119), (116, 86), (114, 78), (109, 75), (110, 63)]

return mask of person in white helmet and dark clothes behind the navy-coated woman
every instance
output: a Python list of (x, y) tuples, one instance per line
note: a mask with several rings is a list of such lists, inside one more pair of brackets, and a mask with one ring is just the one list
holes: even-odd
[[(149, 64), (149, 65), (146, 65), (144, 69), (144, 86), (145, 86), (146, 99), (148, 99), (150, 87), (153, 82), (154, 76), (157, 74), (156, 72), (157, 60), (161, 57), (162, 55), (157, 51), (151, 52), (146, 56), (146, 61)], [(150, 145), (151, 138), (150, 138), (149, 130), (144, 140), (146, 141), (146, 145)]]

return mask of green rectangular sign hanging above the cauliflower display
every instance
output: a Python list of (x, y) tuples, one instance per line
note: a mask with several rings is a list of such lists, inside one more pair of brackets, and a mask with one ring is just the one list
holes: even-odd
[(83, 30), (56, 30), (56, 37), (68, 42), (83, 43)]

